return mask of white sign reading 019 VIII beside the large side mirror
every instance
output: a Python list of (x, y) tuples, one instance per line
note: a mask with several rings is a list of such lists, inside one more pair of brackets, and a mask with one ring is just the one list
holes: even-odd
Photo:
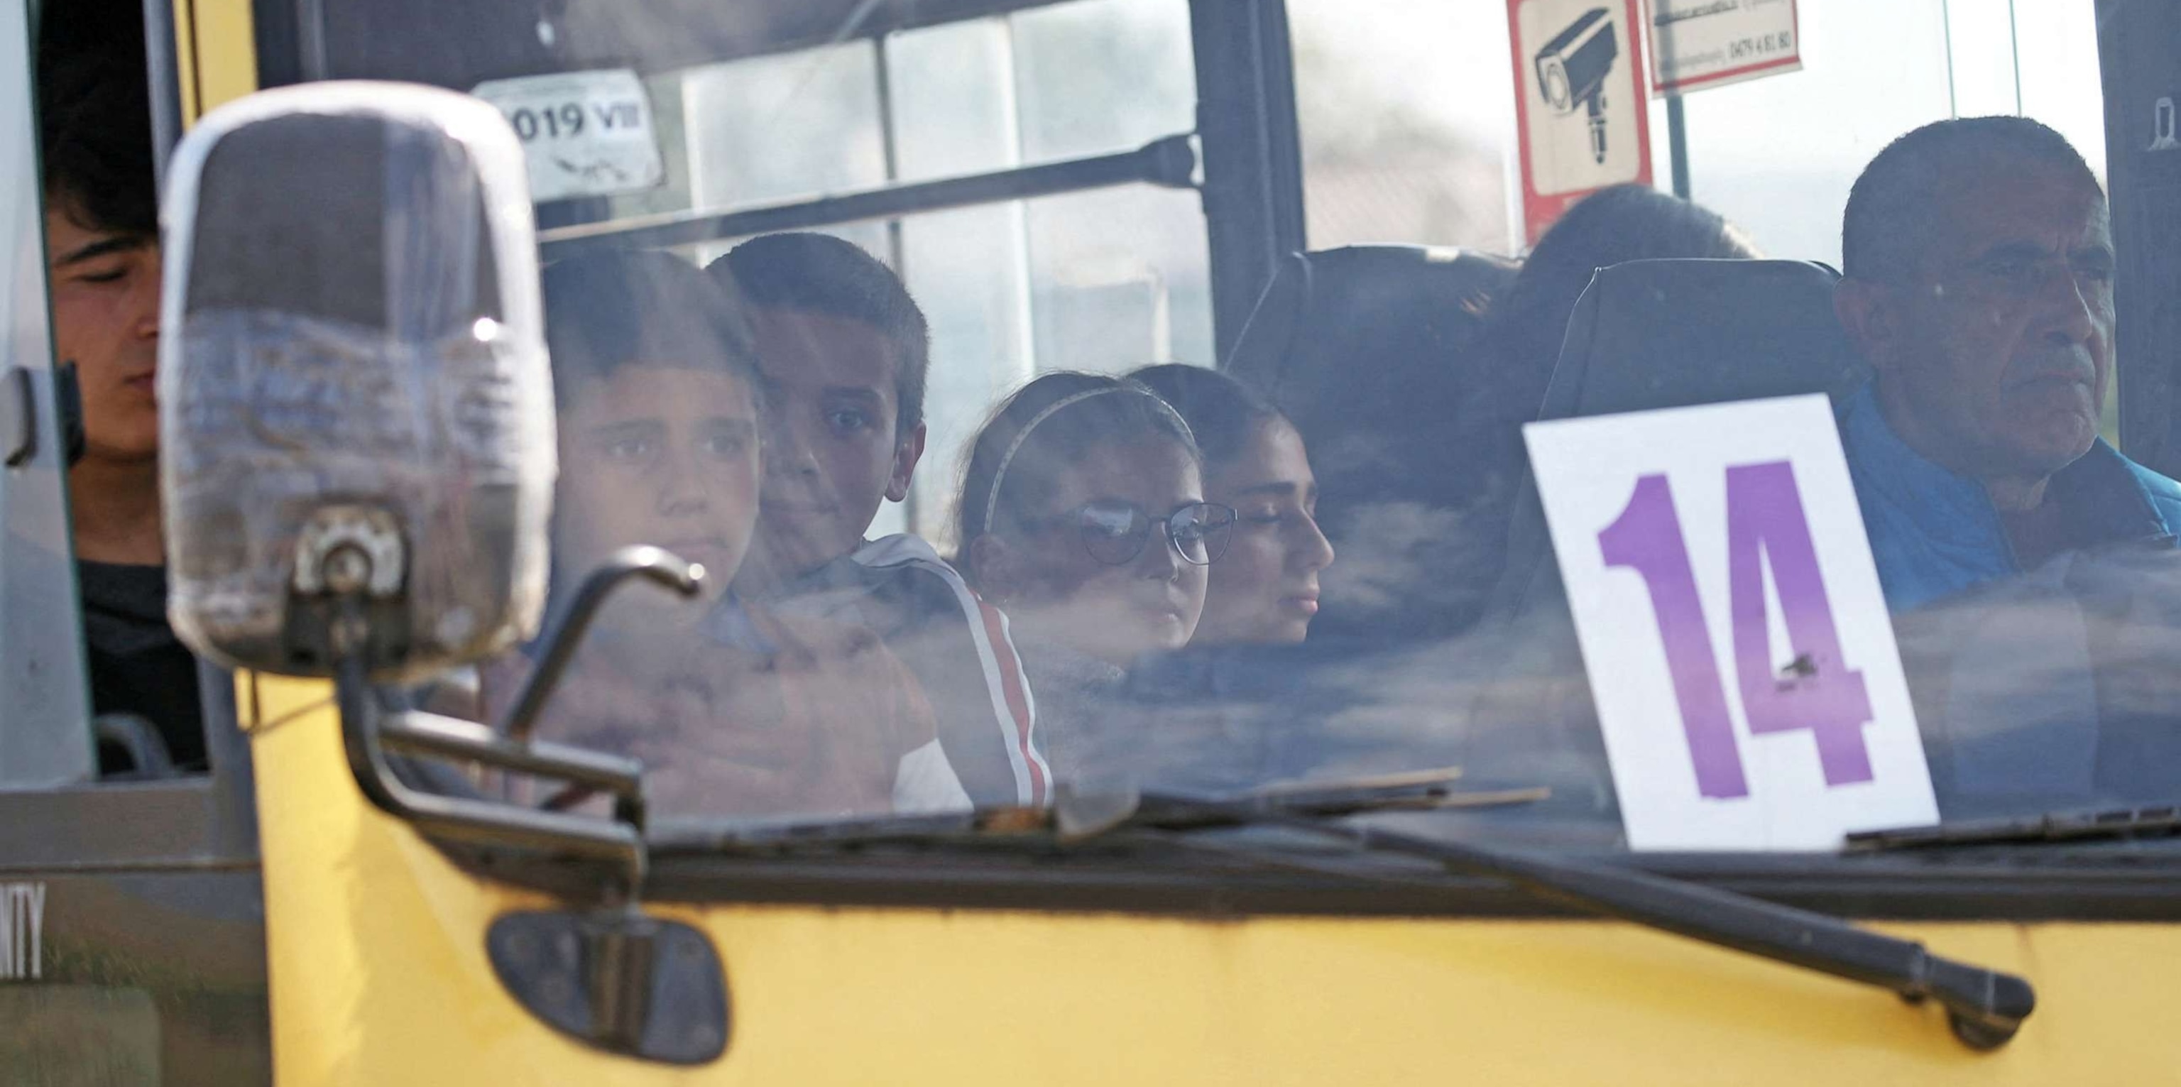
[(530, 155), (530, 199), (611, 196), (665, 181), (652, 98), (619, 68), (495, 79), (471, 92), (499, 107)]

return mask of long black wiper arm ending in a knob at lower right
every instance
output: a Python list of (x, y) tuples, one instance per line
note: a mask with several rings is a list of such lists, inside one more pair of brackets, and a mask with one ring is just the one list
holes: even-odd
[[(1117, 812), (1117, 808), (1121, 810)], [(1110, 797), (1073, 797), (1062, 788), (1056, 792), (1056, 819), (1069, 838), (1088, 838), (1119, 827), (1278, 825), (1346, 840), (1374, 853), (1429, 860), (1461, 875), (1507, 880), (1538, 897), (1603, 917), (1876, 984), (1911, 1002), (1937, 1000), (1945, 1008), (1954, 1037), (1974, 1050), (2004, 1046), (2037, 1006), (2037, 993), (2024, 978), (1956, 963), (1930, 954), (1921, 943), (1867, 932), (1810, 910), (1636, 869), (1337, 823), (1322, 814), (1267, 803), (1263, 797), (1143, 795), (1134, 805), (1117, 805)], [(1226, 851), (1274, 864), (1282, 862), (1276, 851)]]

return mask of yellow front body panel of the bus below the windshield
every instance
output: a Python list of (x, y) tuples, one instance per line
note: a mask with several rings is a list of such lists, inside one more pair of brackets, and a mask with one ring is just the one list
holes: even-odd
[(648, 910), (718, 945), (731, 1039), (704, 1067), (639, 1063), (502, 989), (489, 923), (547, 899), (371, 808), (327, 685), (244, 683), (284, 1087), (2181, 1078), (2177, 925), (1878, 925), (2037, 987), (1978, 1054), (1937, 1006), (1614, 921), (674, 904)]

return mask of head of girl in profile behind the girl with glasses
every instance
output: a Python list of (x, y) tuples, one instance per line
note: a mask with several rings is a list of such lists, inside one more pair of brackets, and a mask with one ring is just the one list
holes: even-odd
[(1130, 378), (1182, 413), (1204, 450), (1204, 495), (1241, 515), (1234, 544), (1210, 570), (1193, 644), (1302, 642), (1333, 544), (1317, 530), (1317, 476), (1296, 423), (1204, 367), (1145, 367)]

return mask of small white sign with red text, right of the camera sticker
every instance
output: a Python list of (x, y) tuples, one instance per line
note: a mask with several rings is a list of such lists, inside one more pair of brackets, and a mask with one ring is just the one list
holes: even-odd
[(1802, 68), (1795, 0), (1649, 0), (1651, 94)]

